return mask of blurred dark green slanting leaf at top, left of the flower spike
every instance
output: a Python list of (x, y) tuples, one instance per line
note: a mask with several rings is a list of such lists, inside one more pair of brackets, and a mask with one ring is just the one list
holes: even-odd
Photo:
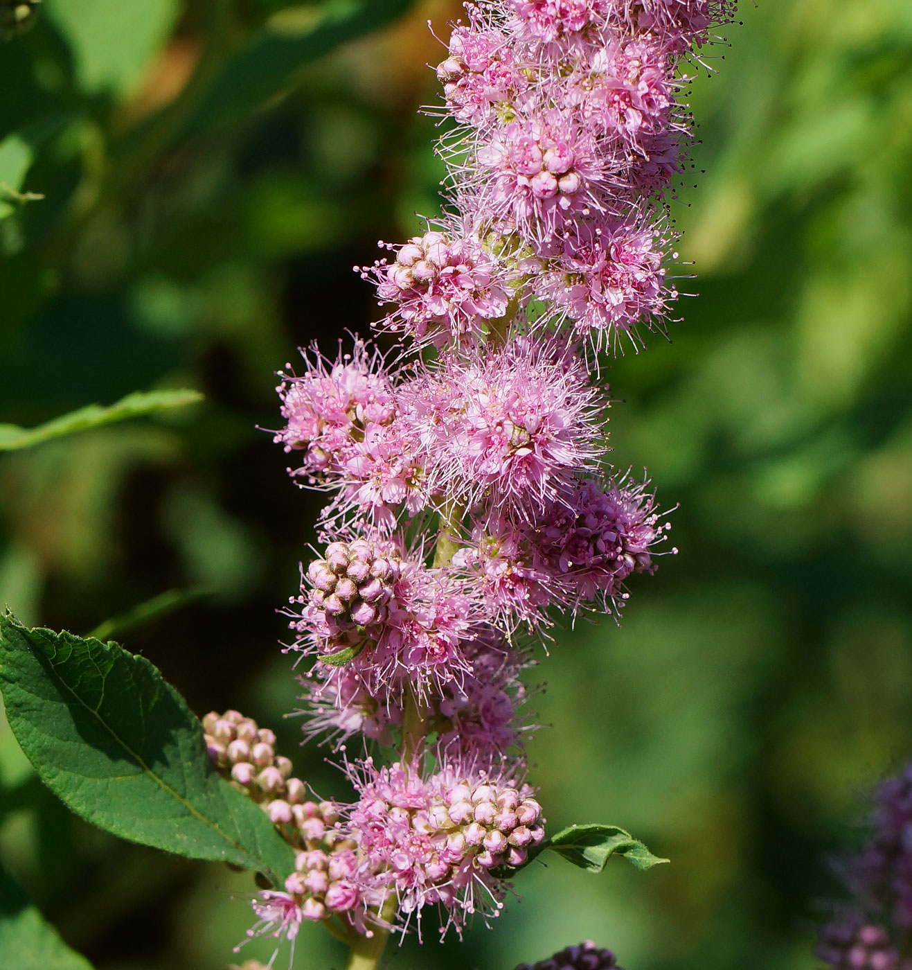
[(291, 87), (302, 67), (385, 26), (409, 5), (410, 0), (329, 0), (299, 34), (259, 32), (225, 65), (188, 127), (236, 125), (237, 118)]

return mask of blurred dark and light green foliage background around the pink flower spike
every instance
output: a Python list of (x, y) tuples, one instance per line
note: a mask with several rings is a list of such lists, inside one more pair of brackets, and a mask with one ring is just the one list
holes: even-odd
[[(319, 503), (257, 426), (296, 346), (377, 315), (351, 267), (435, 210), (425, 21), (459, 12), (45, 0), (0, 46), (0, 421), (206, 396), (0, 455), (0, 600), (86, 632), (203, 591), (125, 645), (198, 712), (276, 727), (322, 792), (344, 789), (282, 720), (275, 613)], [(828, 855), (912, 755), (912, 3), (739, 16), (690, 98), (706, 175), (673, 204), (699, 299), (608, 372), (614, 459), (680, 503), (680, 555), (635, 577), (622, 629), (542, 656), (530, 749), (551, 824), (621, 824), (673, 862), (533, 867), (492, 931), (429, 927), (393, 967), (510, 970), (586, 937), (629, 970), (814, 967)], [(249, 877), (79, 822), (5, 725), (0, 857), (98, 970), (215, 970), (251, 921)], [(296, 967), (343, 958), (305, 927)]]

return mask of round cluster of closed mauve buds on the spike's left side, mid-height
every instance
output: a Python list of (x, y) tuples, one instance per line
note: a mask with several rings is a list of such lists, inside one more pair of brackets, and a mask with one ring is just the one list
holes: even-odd
[(400, 570), (397, 557), (381, 555), (366, 539), (330, 542), (326, 558), (307, 567), (310, 604), (333, 628), (366, 627), (382, 619)]

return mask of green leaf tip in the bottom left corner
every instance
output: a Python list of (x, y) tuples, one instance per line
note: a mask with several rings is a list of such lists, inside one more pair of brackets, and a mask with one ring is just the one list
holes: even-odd
[(0, 866), (0, 954), (16, 970), (92, 970), (42, 917), (13, 877)]

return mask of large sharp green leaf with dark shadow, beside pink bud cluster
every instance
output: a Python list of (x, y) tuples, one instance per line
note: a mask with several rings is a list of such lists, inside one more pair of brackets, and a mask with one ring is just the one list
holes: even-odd
[(74, 812), (121, 838), (265, 872), (291, 847), (219, 777), (203, 728), (142, 657), (116, 643), (28, 630), (0, 617), (0, 688), (16, 740)]

